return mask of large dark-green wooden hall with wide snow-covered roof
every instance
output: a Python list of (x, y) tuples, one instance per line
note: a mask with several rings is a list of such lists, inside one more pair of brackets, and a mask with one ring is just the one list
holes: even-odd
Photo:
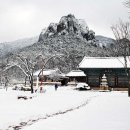
[(79, 69), (86, 74), (86, 83), (91, 87), (100, 87), (101, 78), (105, 74), (111, 88), (128, 88), (127, 72), (130, 71), (130, 60), (124, 57), (84, 57)]

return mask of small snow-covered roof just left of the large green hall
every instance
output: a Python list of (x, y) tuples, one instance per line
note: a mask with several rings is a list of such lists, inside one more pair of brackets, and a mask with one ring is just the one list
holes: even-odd
[(67, 77), (77, 77), (77, 76), (86, 76), (83, 71), (81, 70), (72, 70), (68, 74), (66, 74)]

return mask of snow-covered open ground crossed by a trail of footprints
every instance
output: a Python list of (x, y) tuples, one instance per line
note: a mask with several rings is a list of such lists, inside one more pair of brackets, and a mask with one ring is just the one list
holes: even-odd
[(32, 99), (30, 92), (0, 89), (0, 130), (130, 130), (127, 92), (73, 90), (46, 86)]

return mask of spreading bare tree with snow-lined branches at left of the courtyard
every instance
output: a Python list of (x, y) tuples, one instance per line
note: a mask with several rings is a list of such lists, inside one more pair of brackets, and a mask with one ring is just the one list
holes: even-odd
[[(4, 67), (4, 72), (7, 70), (13, 68), (13, 67), (18, 67), (25, 75), (25, 80), (28, 78), (30, 87), (31, 87), (31, 93), (34, 92), (33, 89), (33, 73), (36, 70), (36, 67), (38, 65), (38, 59), (41, 59), (42, 61), (42, 69), (40, 73), (43, 71), (43, 69), (46, 67), (47, 63), (51, 61), (54, 58), (60, 58), (63, 56), (62, 54), (59, 55), (51, 55), (48, 57), (45, 57), (42, 54), (37, 55), (36, 57), (33, 57), (31, 59), (29, 56), (22, 56), (22, 55), (12, 55), (12, 57), (9, 57), (8, 59), (8, 64)], [(39, 75), (38, 75), (39, 76)], [(26, 84), (26, 81), (25, 81)]]

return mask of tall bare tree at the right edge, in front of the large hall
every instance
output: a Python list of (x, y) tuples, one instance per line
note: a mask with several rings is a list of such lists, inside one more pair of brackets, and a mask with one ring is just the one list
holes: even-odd
[(126, 75), (128, 76), (128, 96), (130, 96), (130, 72), (128, 69), (128, 60), (130, 60), (130, 24), (119, 20), (119, 24), (111, 27), (116, 38), (116, 53), (117, 56), (124, 57), (124, 68), (126, 68)]

